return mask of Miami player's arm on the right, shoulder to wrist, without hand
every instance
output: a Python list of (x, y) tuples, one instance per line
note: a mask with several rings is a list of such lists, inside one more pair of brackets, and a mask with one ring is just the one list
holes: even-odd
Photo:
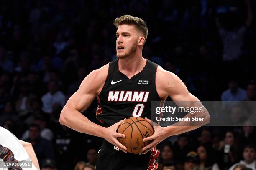
[[(195, 114), (188, 113), (185, 117), (198, 116), (203, 118), (203, 121), (195, 122), (195, 125), (191, 125), (190, 121), (177, 122), (174, 125), (165, 128), (166, 135), (178, 135), (180, 133), (185, 133), (190, 130), (199, 128), (210, 122), (210, 115), (206, 108), (202, 105), (197, 97), (192, 95), (187, 87), (184, 85), (182, 80), (172, 72), (166, 71), (163, 68), (159, 68), (159, 78), (157, 80), (165, 80), (165, 82), (159, 82), (159, 94), (162, 96), (169, 95), (174, 102), (180, 107), (202, 107), (202, 112), (195, 112)], [(164, 78), (165, 77), (165, 78)], [(193, 122), (192, 122), (193, 123)]]

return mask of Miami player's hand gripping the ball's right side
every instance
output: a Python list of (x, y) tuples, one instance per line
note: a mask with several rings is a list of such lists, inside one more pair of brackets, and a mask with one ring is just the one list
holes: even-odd
[(163, 140), (165, 140), (168, 137), (164, 127), (161, 127), (160, 125), (154, 123), (153, 121), (151, 121), (148, 118), (146, 118), (146, 121), (149, 123), (152, 122), (151, 125), (153, 125), (155, 132), (152, 136), (149, 136), (149, 137), (143, 139), (143, 142), (146, 142), (148, 140), (153, 140), (150, 144), (148, 144), (144, 148), (142, 148), (144, 154), (146, 154), (148, 151), (152, 150), (152, 148), (154, 148), (157, 144), (159, 144), (160, 142), (162, 142)]

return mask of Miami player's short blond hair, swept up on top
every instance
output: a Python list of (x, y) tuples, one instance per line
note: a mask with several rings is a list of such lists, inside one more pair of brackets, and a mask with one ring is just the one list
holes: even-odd
[(145, 40), (148, 37), (148, 27), (145, 21), (141, 18), (133, 17), (131, 15), (123, 15), (118, 18), (115, 18), (113, 23), (116, 26), (116, 28), (118, 28), (118, 26), (122, 24), (135, 25), (135, 27), (143, 33), (143, 35), (145, 36)]

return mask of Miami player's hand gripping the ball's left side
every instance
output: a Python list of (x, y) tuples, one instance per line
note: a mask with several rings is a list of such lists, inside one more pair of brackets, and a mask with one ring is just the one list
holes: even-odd
[(105, 140), (107, 140), (109, 143), (117, 146), (120, 150), (122, 150), (123, 152), (127, 153), (127, 148), (122, 145), (117, 138), (125, 138), (125, 134), (123, 133), (117, 133), (116, 130), (118, 129), (119, 125), (125, 121), (126, 118), (124, 120), (120, 120), (119, 122), (115, 123), (114, 125), (105, 128), (105, 136), (103, 137)]

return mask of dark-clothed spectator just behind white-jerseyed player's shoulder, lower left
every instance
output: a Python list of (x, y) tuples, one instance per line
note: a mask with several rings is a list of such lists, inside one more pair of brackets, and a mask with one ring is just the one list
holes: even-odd
[(41, 138), (39, 125), (29, 126), (29, 137), (25, 141), (32, 144), (39, 163), (46, 159), (54, 160), (54, 148), (49, 140)]

